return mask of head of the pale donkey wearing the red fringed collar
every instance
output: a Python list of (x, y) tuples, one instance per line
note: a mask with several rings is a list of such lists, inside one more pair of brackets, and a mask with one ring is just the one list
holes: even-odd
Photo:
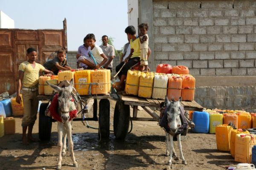
[(47, 84), (58, 93), (58, 110), (61, 113), (62, 122), (67, 122), (70, 119), (70, 102), (72, 100), (72, 89), (73, 89), (73, 79), (70, 80), (70, 85), (68, 87), (60, 88), (57, 85), (52, 85), (49, 82)]

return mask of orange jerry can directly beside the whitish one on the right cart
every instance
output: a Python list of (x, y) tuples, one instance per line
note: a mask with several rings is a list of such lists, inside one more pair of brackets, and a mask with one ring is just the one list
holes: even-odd
[(178, 100), (181, 96), (182, 78), (178, 74), (167, 74), (168, 89), (167, 97), (169, 100)]

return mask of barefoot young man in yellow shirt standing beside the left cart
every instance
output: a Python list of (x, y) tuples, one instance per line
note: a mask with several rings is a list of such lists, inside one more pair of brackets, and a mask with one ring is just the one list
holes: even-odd
[[(35, 48), (27, 49), (27, 57), (29, 60), (22, 62), (19, 66), (16, 97), (16, 102), (20, 103), (20, 90), (22, 89), (22, 100), (24, 105), (24, 115), (21, 124), (23, 144), (38, 141), (38, 139), (32, 138), (32, 129), (35, 124), (36, 114), (38, 111), (38, 100), (36, 99), (36, 96), (38, 96), (39, 72), (44, 72), (47, 76), (53, 75), (52, 71), (45, 69), (43, 65), (35, 62), (35, 59), (37, 58), (37, 51)], [(28, 136), (26, 137), (27, 127), (29, 127), (29, 129)]]

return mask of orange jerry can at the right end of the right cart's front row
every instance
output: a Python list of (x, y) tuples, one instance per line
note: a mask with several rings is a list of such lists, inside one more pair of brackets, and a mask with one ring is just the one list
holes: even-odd
[(195, 78), (189, 74), (183, 74), (182, 77), (182, 90), (181, 99), (192, 101), (195, 95)]

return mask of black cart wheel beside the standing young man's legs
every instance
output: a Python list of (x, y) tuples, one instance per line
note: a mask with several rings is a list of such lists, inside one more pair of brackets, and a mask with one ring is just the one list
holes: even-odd
[(49, 141), (51, 138), (52, 118), (45, 116), (48, 103), (42, 103), (39, 110), (39, 139)]

